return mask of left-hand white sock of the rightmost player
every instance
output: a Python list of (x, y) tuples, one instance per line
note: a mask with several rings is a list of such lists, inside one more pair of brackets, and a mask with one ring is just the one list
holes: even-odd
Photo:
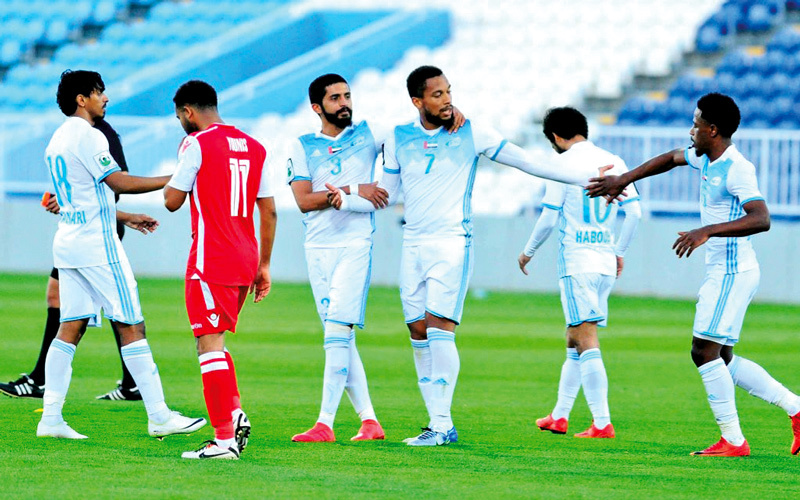
[(736, 412), (736, 392), (728, 368), (722, 358), (697, 367), (703, 385), (708, 394), (708, 404), (714, 413), (722, 437), (734, 446), (744, 443), (744, 435), (739, 426), (739, 414)]

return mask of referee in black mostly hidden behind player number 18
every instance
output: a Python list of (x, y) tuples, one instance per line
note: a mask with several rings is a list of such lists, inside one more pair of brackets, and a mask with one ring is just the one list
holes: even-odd
[[(109, 151), (111, 157), (117, 162), (123, 172), (128, 171), (128, 165), (125, 161), (125, 154), (122, 151), (122, 142), (119, 135), (111, 125), (104, 119), (98, 119), (94, 127), (106, 136), (109, 144)], [(58, 214), (58, 200), (55, 194), (48, 193), (45, 202), (45, 209), (53, 214)], [(119, 195), (115, 195), (115, 200), (119, 201)], [(120, 241), (125, 234), (125, 226), (141, 231), (143, 234), (152, 232), (158, 227), (158, 222), (145, 214), (131, 214), (117, 210), (117, 236)], [(39, 349), (39, 357), (36, 360), (36, 365), (30, 374), (22, 373), (17, 380), (13, 380), (7, 384), (0, 384), (0, 392), (20, 398), (41, 398), (44, 396), (44, 363), (47, 358), (47, 351), (50, 344), (58, 334), (58, 326), (60, 324), (61, 314), (59, 311), (60, 302), (58, 300), (58, 269), (55, 267), (50, 271), (50, 278), (47, 281), (47, 321), (45, 322), (44, 335), (42, 337), (42, 346)], [(117, 382), (117, 387), (108, 391), (105, 394), (97, 396), (97, 399), (106, 399), (112, 401), (141, 401), (142, 395), (136, 387), (136, 382), (133, 381), (128, 369), (125, 367), (125, 362), (122, 360), (122, 344), (119, 337), (119, 331), (116, 324), (111, 323), (111, 329), (114, 332), (114, 339), (117, 342), (117, 349), (120, 350), (120, 362), (122, 363), (122, 379)]]

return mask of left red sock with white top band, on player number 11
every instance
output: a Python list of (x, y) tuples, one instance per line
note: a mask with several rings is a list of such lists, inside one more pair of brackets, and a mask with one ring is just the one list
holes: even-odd
[(206, 399), (208, 418), (217, 439), (233, 439), (233, 411), (230, 391), (230, 370), (222, 352), (209, 352), (200, 356), (200, 373), (203, 376), (203, 396)]

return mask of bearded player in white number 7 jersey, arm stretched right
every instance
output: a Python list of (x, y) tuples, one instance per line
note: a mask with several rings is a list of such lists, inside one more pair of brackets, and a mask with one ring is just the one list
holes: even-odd
[[(459, 372), (455, 329), (472, 274), (472, 184), (478, 157), (562, 182), (585, 184), (596, 170), (571, 172), (540, 167), (496, 131), (466, 120), (448, 135), (454, 119), (450, 83), (442, 71), (421, 66), (406, 81), (419, 119), (395, 127), (384, 146), (381, 186), (389, 203), (402, 185), (405, 210), (400, 297), (422, 397), (430, 421), (410, 446), (455, 442), (451, 417)], [(372, 203), (345, 195), (330, 183), (331, 203), (340, 209), (372, 211)]]

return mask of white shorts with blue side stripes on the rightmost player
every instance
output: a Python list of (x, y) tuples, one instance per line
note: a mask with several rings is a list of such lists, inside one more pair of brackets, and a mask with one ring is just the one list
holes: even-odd
[(707, 274), (697, 292), (694, 336), (722, 345), (736, 344), (760, 279), (758, 268), (736, 274)]

